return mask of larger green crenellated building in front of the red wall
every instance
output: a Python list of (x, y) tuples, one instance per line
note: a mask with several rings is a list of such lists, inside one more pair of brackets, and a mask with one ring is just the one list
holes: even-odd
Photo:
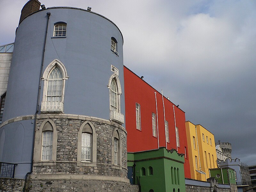
[(128, 178), (141, 192), (186, 191), (183, 164), (184, 154), (164, 147), (127, 153)]

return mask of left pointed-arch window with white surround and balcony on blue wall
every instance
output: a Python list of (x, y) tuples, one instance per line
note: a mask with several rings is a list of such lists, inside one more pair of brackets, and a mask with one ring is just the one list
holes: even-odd
[(68, 74), (65, 66), (57, 59), (45, 69), (42, 112), (63, 112), (65, 81)]

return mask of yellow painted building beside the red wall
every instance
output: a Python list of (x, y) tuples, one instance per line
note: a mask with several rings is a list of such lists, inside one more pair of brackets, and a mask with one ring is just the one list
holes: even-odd
[(206, 181), (209, 169), (217, 168), (214, 135), (202, 125), (186, 121), (191, 179)]

